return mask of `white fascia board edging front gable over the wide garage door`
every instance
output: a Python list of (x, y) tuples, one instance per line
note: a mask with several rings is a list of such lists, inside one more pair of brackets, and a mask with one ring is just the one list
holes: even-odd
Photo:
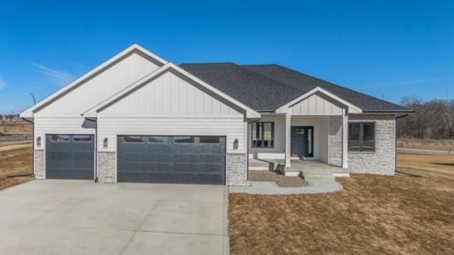
[(114, 94), (113, 96), (106, 98), (101, 103), (96, 104), (96, 106), (89, 108), (87, 111), (84, 111), (84, 113), (82, 113), (81, 115), (84, 117), (96, 117), (97, 113), (102, 111), (102, 109), (106, 108), (106, 106), (109, 106), (114, 101), (117, 101), (118, 99), (122, 98), (123, 96), (128, 94), (129, 91), (132, 91), (133, 89), (137, 88), (138, 86), (143, 85), (145, 82), (150, 81), (150, 79), (153, 79), (154, 77), (157, 77), (158, 75), (160, 75), (164, 72), (167, 72), (170, 69), (173, 69), (176, 72), (179, 72), (179, 74), (182, 74), (185, 77), (192, 79), (194, 82), (196, 82), (197, 84), (200, 84), (201, 86), (204, 86), (206, 89), (209, 89), (209, 91), (212, 91), (214, 94), (217, 94), (217, 95), (221, 96), (222, 98), (225, 98), (226, 100), (235, 104), (236, 106), (243, 108), (246, 111), (246, 118), (260, 118), (260, 113), (254, 111), (252, 108), (249, 108), (248, 106), (245, 106), (243, 103), (236, 101), (236, 99), (232, 98), (231, 96), (228, 96), (227, 94), (224, 94), (222, 91), (215, 89), (213, 86), (206, 84), (206, 82), (202, 81), (201, 79), (199, 79), (197, 77), (194, 77), (192, 74), (189, 74), (188, 72), (184, 71), (184, 69), (178, 67), (175, 64), (172, 64), (171, 62), (167, 62), (167, 64), (165, 64), (164, 66), (160, 67), (159, 69), (156, 69), (155, 71), (146, 75), (142, 79), (135, 81), (133, 84), (127, 86), (125, 89), (123, 89), (121, 91), (118, 91), (118, 93)]

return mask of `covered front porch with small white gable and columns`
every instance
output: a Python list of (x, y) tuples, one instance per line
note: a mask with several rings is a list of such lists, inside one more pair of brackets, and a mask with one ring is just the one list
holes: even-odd
[(249, 169), (269, 164), (286, 175), (348, 174), (348, 115), (359, 111), (321, 90), (263, 113), (249, 125)]

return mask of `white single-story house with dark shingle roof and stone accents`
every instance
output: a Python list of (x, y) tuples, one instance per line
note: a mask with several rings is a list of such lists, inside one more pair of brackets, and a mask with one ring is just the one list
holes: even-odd
[(243, 186), (248, 159), (394, 174), (409, 110), (277, 64), (181, 64), (140, 45), (21, 113), (37, 179)]

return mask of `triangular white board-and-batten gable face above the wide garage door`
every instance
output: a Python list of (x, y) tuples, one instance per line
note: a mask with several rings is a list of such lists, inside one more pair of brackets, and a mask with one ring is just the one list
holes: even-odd
[(222, 98), (167, 70), (101, 110), (102, 115), (239, 115)]

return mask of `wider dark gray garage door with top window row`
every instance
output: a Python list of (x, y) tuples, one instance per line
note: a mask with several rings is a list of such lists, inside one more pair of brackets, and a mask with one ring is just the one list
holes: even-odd
[(118, 136), (118, 181), (223, 184), (226, 137)]

